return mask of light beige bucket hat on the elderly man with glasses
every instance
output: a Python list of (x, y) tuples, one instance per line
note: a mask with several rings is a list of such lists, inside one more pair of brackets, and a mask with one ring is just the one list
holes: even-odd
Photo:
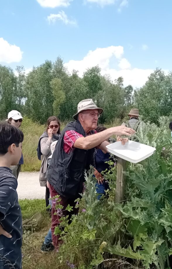
[(103, 113), (103, 109), (98, 108), (97, 105), (94, 104), (92, 99), (85, 99), (79, 102), (78, 112), (75, 115), (73, 115), (74, 120), (78, 119), (78, 114), (81, 113), (81, 111), (87, 110), (87, 109), (98, 109), (100, 115)]

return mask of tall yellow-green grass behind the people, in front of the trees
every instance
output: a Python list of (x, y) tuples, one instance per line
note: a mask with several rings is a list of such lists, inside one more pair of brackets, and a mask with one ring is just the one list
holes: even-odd
[[(105, 124), (107, 128), (113, 126), (119, 126), (123, 120), (120, 118), (114, 118), (113, 121)], [(67, 122), (61, 123), (61, 130), (65, 127)], [(22, 171), (39, 171), (41, 166), (41, 161), (37, 158), (37, 146), (39, 137), (43, 134), (46, 129), (45, 125), (40, 125), (37, 122), (32, 122), (29, 118), (25, 117), (22, 122), (21, 127), (24, 133), (24, 141), (23, 141), (23, 158), (24, 164), (22, 165)]]

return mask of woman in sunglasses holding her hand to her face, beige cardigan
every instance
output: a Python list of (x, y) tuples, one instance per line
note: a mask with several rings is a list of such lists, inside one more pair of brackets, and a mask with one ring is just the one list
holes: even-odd
[(61, 132), (60, 132), (59, 119), (56, 118), (55, 116), (49, 117), (47, 120), (47, 129), (39, 138), (37, 147), (38, 159), (42, 161), (39, 172), (39, 182), (42, 187), (46, 187), (46, 194), (45, 194), (46, 207), (49, 205), (49, 196), (50, 196), (49, 188), (47, 188), (48, 157), (51, 155), (50, 146), (52, 142), (59, 140), (60, 134)]

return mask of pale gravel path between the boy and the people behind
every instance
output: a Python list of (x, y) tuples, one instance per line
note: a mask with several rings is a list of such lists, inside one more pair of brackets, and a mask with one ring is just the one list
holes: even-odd
[(19, 199), (45, 198), (45, 187), (39, 184), (39, 172), (20, 172), (17, 193)]

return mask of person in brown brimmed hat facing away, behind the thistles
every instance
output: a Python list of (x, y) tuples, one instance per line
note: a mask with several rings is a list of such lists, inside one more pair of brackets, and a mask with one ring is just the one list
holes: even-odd
[(127, 115), (130, 117), (130, 120), (128, 120), (126, 123), (123, 122), (122, 125), (130, 127), (137, 132), (137, 129), (140, 125), (139, 110), (137, 108), (132, 108)]

